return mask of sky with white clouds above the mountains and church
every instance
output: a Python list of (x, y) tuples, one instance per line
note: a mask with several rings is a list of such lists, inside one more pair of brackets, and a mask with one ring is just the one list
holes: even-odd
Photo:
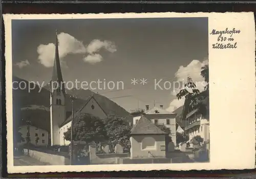
[(174, 82), (188, 76), (203, 81), (208, 19), (202, 17), (12, 20), (13, 75), (43, 85), (50, 81), (56, 30), (63, 80), (77, 80), (78, 87), (100, 80), (92, 91), (127, 111), (145, 105), (173, 111), (183, 104)]

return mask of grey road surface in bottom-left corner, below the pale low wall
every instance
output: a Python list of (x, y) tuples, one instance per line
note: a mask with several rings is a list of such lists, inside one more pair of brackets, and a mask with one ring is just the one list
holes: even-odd
[(27, 155), (14, 156), (13, 164), (14, 166), (50, 165), (44, 162), (40, 162), (37, 159), (34, 159)]

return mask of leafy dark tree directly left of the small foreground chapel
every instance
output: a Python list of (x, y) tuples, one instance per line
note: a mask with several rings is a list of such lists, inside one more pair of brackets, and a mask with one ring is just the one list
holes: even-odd
[(111, 146), (120, 144), (124, 150), (130, 151), (131, 126), (127, 125), (122, 118), (114, 115), (108, 116), (105, 122), (105, 129)]

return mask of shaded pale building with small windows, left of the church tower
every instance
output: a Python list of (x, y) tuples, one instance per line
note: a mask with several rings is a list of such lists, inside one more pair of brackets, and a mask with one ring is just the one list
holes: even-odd
[(48, 145), (49, 132), (47, 130), (35, 127), (33, 125), (22, 125), (18, 128), (18, 131), (22, 134), (24, 139), (18, 145), (27, 144), (27, 133), (30, 134), (30, 143), (36, 146)]

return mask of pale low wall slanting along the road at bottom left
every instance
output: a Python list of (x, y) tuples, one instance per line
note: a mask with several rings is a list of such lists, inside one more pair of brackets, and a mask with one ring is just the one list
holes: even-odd
[[(24, 149), (24, 153), (28, 154), (28, 149)], [(70, 163), (70, 160), (65, 156), (31, 149), (29, 149), (29, 156), (39, 160), (40, 162), (48, 163), (51, 165), (67, 165)]]

